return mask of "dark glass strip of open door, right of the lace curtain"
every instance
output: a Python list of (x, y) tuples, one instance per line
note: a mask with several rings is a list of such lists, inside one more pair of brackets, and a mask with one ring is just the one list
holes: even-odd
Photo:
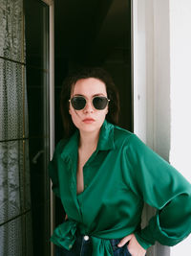
[(29, 106), (32, 251), (50, 255), (49, 6), (25, 0), (26, 81)]

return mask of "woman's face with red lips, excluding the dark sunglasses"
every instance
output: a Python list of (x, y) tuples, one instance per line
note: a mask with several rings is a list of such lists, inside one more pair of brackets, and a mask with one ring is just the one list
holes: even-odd
[(108, 105), (104, 109), (97, 110), (92, 104), (92, 100), (95, 96), (107, 97), (105, 83), (94, 78), (78, 80), (74, 84), (71, 99), (74, 96), (83, 96), (86, 99), (86, 105), (81, 110), (75, 110), (70, 103), (69, 113), (71, 114), (74, 126), (80, 132), (98, 131), (105, 120)]

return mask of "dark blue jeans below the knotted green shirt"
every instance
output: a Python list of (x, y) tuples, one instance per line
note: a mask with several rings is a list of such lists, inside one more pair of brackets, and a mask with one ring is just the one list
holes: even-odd
[[(119, 239), (111, 239), (114, 256), (131, 256), (128, 251), (127, 244), (117, 247)], [(83, 236), (77, 236), (73, 248), (69, 251), (65, 248), (56, 246), (55, 256), (92, 256), (92, 241), (84, 240)]]

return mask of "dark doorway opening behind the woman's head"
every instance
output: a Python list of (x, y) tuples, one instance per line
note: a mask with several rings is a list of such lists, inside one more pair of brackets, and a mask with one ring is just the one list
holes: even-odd
[[(54, 8), (55, 144), (62, 137), (62, 81), (80, 66), (101, 66), (112, 75), (120, 96), (119, 126), (132, 130), (131, 1), (56, 0)], [(59, 201), (55, 209), (57, 224), (64, 220)]]

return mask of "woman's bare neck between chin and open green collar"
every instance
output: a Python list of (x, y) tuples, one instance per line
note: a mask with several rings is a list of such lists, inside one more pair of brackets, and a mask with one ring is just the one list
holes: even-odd
[(79, 149), (82, 151), (96, 150), (99, 130), (95, 132), (80, 132)]

